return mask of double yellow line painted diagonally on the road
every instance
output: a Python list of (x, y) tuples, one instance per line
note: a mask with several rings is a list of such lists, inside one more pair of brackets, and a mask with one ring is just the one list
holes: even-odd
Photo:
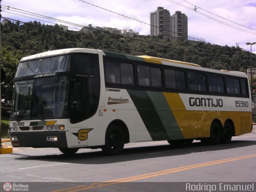
[[(161, 175), (166, 175), (166, 174), (171, 174), (175, 172), (180, 172), (180, 171), (185, 171), (185, 170), (190, 170), (194, 168), (200, 168), (200, 167), (205, 167), (205, 166), (211, 166), (211, 165), (216, 165), (216, 164), (221, 164), (221, 163), (226, 163), (226, 162), (232, 162), (236, 160), (242, 160), (246, 158), (252, 158), (256, 157), (256, 154), (250, 154), (250, 155), (245, 155), (245, 156), (238, 156), (234, 158), (227, 158), (227, 159), (221, 159), (221, 160), (216, 160), (216, 161), (210, 161), (210, 162), (205, 162), (205, 163), (199, 163), (199, 164), (193, 164), (193, 165), (188, 165), (188, 166), (183, 166), (183, 167), (178, 167), (178, 168), (172, 168), (168, 170), (163, 170), (163, 171), (158, 171), (158, 172), (153, 172), (153, 173), (148, 173), (148, 174), (143, 174), (143, 175), (138, 175), (138, 176), (132, 176), (132, 177), (126, 177), (126, 178), (121, 178), (121, 179), (116, 179), (116, 180), (110, 180), (106, 182), (98, 182), (98, 183), (92, 183), (89, 186), (85, 188), (80, 188), (84, 186), (78, 186), (76, 190), (71, 190), (68, 192), (77, 192), (77, 191), (82, 191), (82, 190), (88, 190), (91, 188), (97, 188), (97, 187), (103, 187), (103, 186), (108, 186), (108, 185), (114, 185), (114, 184), (119, 184), (122, 182), (130, 182), (130, 181), (135, 181), (135, 180), (141, 180), (145, 178), (150, 178), (150, 177), (156, 177), (156, 176), (161, 176)], [(55, 190), (52, 192), (60, 192), (60, 191), (66, 191), (70, 190), (73, 188), (65, 188), (61, 190)]]

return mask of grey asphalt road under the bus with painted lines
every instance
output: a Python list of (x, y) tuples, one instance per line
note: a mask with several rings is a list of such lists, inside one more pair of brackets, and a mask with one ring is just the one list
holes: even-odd
[(186, 191), (188, 182), (252, 184), (255, 149), (256, 128), (233, 137), (230, 144), (194, 141), (177, 147), (166, 141), (142, 142), (125, 145), (119, 156), (90, 149), (66, 156), (55, 148), (13, 148), (12, 154), (0, 155), (0, 182), (28, 184), (29, 191), (129, 192), (170, 191), (170, 187)]

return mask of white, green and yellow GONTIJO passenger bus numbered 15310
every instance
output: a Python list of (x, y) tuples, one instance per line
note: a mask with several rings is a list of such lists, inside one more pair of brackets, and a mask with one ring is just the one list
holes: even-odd
[(101, 148), (124, 144), (229, 143), (252, 132), (248, 77), (197, 64), (69, 48), (26, 56), (14, 78), (13, 147)]

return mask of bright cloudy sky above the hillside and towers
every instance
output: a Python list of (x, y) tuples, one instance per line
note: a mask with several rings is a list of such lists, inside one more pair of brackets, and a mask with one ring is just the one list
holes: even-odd
[[(28, 15), (32, 12), (82, 26), (132, 29), (141, 35), (150, 34), (150, 12), (161, 6), (171, 15), (177, 10), (185, 13), (188, 35), (194, 38), (222, 46), (238, 44), (248, 51), (250, 45), (245, 43), (256, 42), (256, 0), (2, 0), (1, 5), (2, 17), (22, 22), (47, 21)], [(80, 29), (70, 25), (69, 29), (72, 28)], [(252, 52), (256, 53), (256, 44)]]

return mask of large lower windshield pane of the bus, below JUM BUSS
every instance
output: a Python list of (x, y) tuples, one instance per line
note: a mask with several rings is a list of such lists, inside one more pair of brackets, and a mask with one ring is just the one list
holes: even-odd
[(11, 119), (65, 118), (67, 85), (64, 76), (14, 82)]

